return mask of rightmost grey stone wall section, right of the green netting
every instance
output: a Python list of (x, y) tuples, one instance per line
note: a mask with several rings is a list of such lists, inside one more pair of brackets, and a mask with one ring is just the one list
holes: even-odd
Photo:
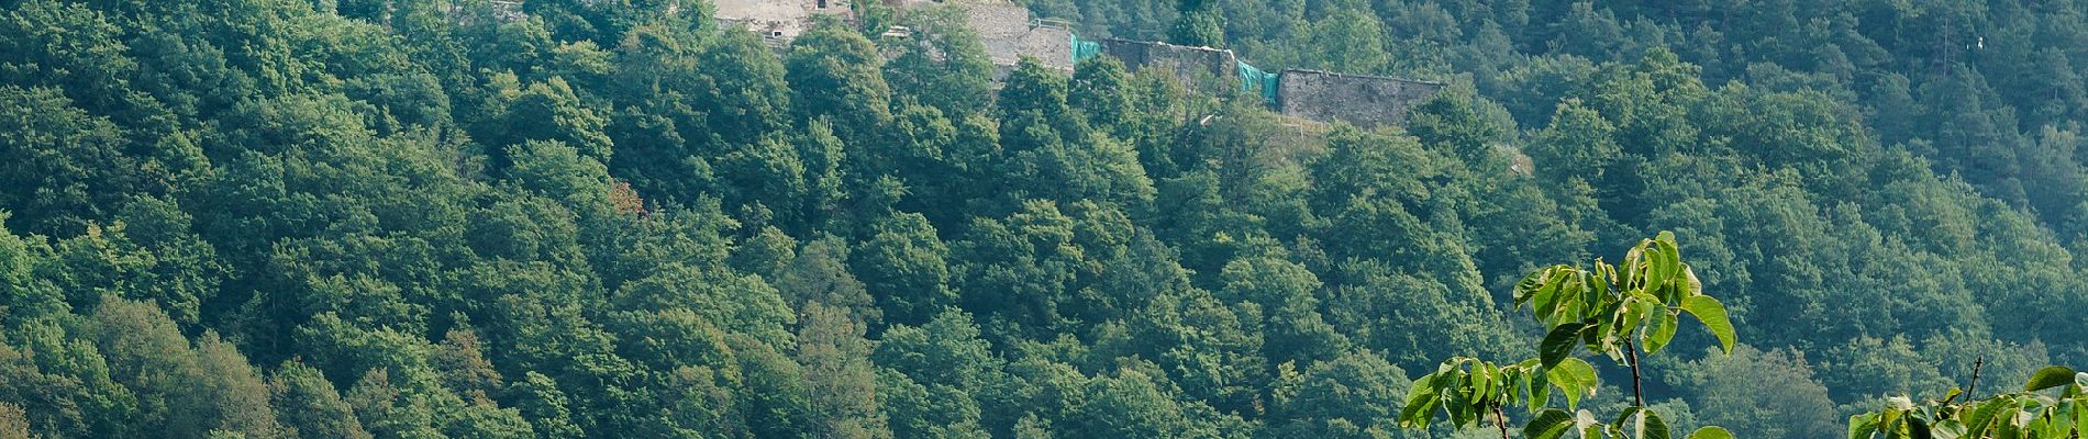
[(1286, 69), (1280, 81), (1282, 114), (1357, 127), (1405, 125), (1407, 108), (1443, 89), (1443, 83), (1303, 69)]

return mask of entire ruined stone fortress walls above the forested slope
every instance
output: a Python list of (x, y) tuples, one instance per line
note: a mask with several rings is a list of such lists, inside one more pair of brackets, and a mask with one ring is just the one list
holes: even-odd
[[(814, 15), (852, 19), (850, 2), (854, 0), (716, 0), (716, 17), (725, 23), (745, 25), (781, 48), (810, 29)], [(935, 0), (883, 2), (900, 10), (942, 4)], [(1347, 121), (1359, 127), (1403, 125), (1407, 108), (1443, 89), (1443, 83), (1397, 77), (1303, 69), (1270, 73), (1242, 62), (1232, 50), (1219, 48), (1134, 40), (1086, 42), (1063, 23), (1034, 19), (1029, 8), (1019, 4), (981, 0), (960, 6), (965, 8), (965, 25), (979, 33), (988, 58), (1002, 73), (1021, 58), (1073, 71), (1079, 60), (1109, 54), (1132, 71), (1159, 69), (1194, 89), (1238, 89), (1261, 96), (1263, 102), (1288, 117)]]

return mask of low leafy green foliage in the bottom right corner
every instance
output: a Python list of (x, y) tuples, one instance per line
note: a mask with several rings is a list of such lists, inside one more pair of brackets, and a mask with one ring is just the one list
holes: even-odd
[[(1973, 385), (1979, 375), (1973, 368)], [(2053, 395), (2050, 389), (2059, 389)], [(1971, 399), (1950, 389), (1942, 399), (1915, 404), (1890, 397), (1879, 412), (1848, 418), (1850, 439), (2080, 439), (2088, 429), (2088, 372), (2048, 366), (2030, 375), (2021, 391)], [(1965, 395), (1965, 402), (1952, 402)]]

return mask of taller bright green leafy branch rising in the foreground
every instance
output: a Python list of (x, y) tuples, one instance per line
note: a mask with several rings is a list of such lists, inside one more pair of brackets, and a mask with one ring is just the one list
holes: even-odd
[[(1522, 435), (1531, 439), (1556, 439), (1570, 431), (1581, 437), (1664, 439), (1670, 437), (1666, 420), (1645, 408), (1639, 391), (1639, 356), (1664, 350), (1683, 312), (1702, 320), (1727, 354), (1737, 339), (1725, 304), (1704, 295), (1704, 283), (1681, 260), (1675, 233), (1666, 231), (1631, 248), (1622, 264), (1597, 258), (1593, 268), (1558, 264), (1531, 273), (1516, 283), (1516, 306), (1524, 304), (1547, 331), (1537, 358), (1516, 364), (1445, 360), (1437, 372), (1414, 381), (1399, 424), (1426, 429), (1445, 414), (1455, 427), (1472, 427), (1491, 416), (1501, 437), (1510, 437), (1505, 408), (1526, 406), (1531, 420)], [(1610, 422), (1576, 410), (1581, 397), (1597, 389), (1595, 366), (1576, 358), (1576, 347), (1631, 368), (1633, 406)], [(1574, 412), (1551, 408), (1553, 389)], [(1733, 433), (1704, 427), (1689, 437), (1729, 439)]]

